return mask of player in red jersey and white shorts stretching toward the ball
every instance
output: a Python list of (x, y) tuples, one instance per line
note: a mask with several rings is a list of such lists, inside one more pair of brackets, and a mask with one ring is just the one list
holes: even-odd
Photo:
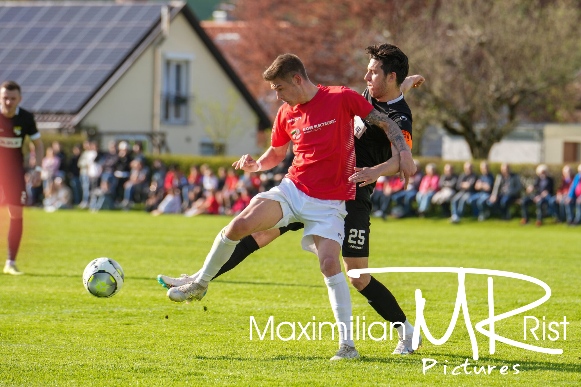
[(228, 261), (240, 239), (301, 222), (302, 247), (319, 258), (338, 322), (339, 350), (331, 360), (358, 359), (350, 338), (349, 286), (339, 261), (345, 238), (345, 201), (354, 200), (356, 192), (355, 182), (349, 181), (356, 167), (353, 118), (365, 117), (385, 131), (400, 153), (400, 175), (406, 180), (415, 173), (410, 147), (400, 128), (357, 92), (311, 83), (296, 55), (278, 56), (263, 77), (278, 99), (286, 102), (275, 119), (271, 147), (259, 160), (244, 155), (233, 165), (249, 172), (271, 169), (284, 159), (290, 141), (295, 153), (293, 164), (278, 187), (254, 196), (250, 205), (218, 234), (199, 277), (170, 288), (167, 296), (175, 302), (202, 299), (209, 281)]

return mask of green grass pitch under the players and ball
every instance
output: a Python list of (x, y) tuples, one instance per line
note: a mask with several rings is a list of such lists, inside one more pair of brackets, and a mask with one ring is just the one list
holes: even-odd
[[(5, 217), (5, 209), (0, 210)], [(41, 210), (26, 210), (24, 217), (19, 267), (27, 275), (0, 274), (0, 386), (553, 386), (581, 381), (579, 228), (520, 227), (516, 220), (459, 225), (434, 219), (373, 220), (371, 267), (490, 268), (546, 282), (553, 295), (525, 314), (539, 320), (545, 316), (547, 325), (566, 316), (571, 322), (566, 341), (560, 325), (558, 341), (531, 341), (529, 335), (526, 343), (562, 348), (564, 353), (536, 353), (497, 342), (496, 353), (489, 354), (488, 338), (476, 332), (480, 359), (474, 361), (461, 314), (444, 345), (425, 341), (413, 356), (396, 356), (391, 354), (395, 340), (360, 340), (361, 360), (331, 364), (337, 342), (330, 340), (328, 327), (322, 341), (303, 336), (283, 342), (276, 335), (275, 341), (270, 335), (264, 341), (256, 335), (249, 340), (249, 316), (261, 326), (268, 316), (277, 325), (306, 324), (312, 316), (333, 321), (317, 259), (300, 249), (301, 232), (288, 232), (212, 282), (202, 302), (175, 304), (156, 275), (198, 270), (229, 218)], [(2, 231), (5, 243), (5, 227)], [(117, 260), (125, 271), (123, 289), (110, 299), (92, 297), (81, 281), (87, 263), (103, 256)], [(456, 300), (456, 274), (375, 276), (394, 293), (412, 323), (414, 292), (421, 289), (432, 334), (444, 334)], [(488, 314), (486, 281), (486, 275), (466, 277), (473, 325)], [(352, 287), (351, 294), (354, 316), (382, 321)], [(494, 277), (496, 314), (543, 295), (537, 285)], [(496, 332), (523, 342), (523, 315), (497, 322)], [(282, 334), (288, 335), (289, 329)], [(438, 361), (426, 375), (422, 358)], [(460, 375), (451, 375), (466, 358), (472, 373), (460, 368)], [(514, 364), (520, 364), (519, 374), (512, 374)], [(475, 375), (475, 365), (497, 368), (490, 375)], [(498, 372), (504, 365), (507, 375)]]

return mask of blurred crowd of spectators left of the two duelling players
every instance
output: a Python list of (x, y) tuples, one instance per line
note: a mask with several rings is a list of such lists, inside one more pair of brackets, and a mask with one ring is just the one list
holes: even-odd
[[(42, 159), (42, 186), (32, 187), (25, 174), (29, 206), (44, 206), (47, 212), (77, 206), (91, 212), (145, 209), (154, 216), (164, 213), (235, 215), (249, 205), (256, 193), (278, 185), (292, 157), (271, 171), (236, 173), (224, 167), (216, 173), (207, 164), (192, 165), (187, 175), (175, 164), (154, 160), (146, 163), (139, 143), (109, 142), (106, 152), (98, 142), (74, 145), (72, 155), (62, 152), (58, 141), (46, 149)], [(292, 156), (292, 153), (290, 153)], [(27, 157), (28, 170), (35, 167), (34, 149)]]

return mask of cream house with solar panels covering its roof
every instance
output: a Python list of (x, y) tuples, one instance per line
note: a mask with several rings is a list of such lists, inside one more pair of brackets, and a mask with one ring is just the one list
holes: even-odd
[(0, 82), (39, 129), (191, 155), (259, 152), (263, 109), (185, 2), (0, 1)]

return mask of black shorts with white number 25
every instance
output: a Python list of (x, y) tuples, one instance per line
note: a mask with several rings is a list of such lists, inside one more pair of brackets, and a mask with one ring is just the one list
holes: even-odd
[(345, 241), (342, 255), (347, 258), (369, 256), (371, 200), (349, 200), (345, 203)]

